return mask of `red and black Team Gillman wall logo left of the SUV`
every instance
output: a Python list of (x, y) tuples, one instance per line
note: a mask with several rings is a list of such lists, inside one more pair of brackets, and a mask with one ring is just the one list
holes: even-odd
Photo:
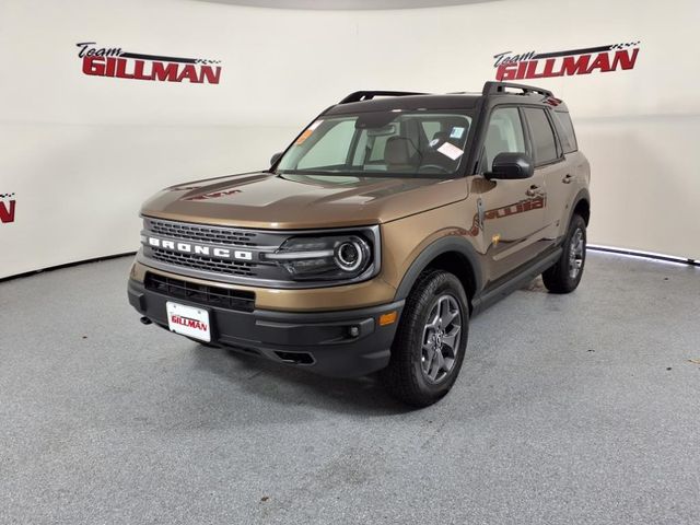
[(120, 47), (97, 47), (94, 42), (75, 45), (83, 73), (90, 75), (191, 84), (218, 84), (221, 79), (221, 60), (128, 52)]

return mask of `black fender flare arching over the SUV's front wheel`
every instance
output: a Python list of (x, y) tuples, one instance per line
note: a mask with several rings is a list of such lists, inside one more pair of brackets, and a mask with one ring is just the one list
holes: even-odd
[(469, 266), (471, 267), (471, 277), (474, 279), (475, 295), (481, 291), (483, 283), (483, 276), (481, 273), (481, 264), (479, 262), (479, 256), (474, 246), (463, 237), (454, 235), (441, 237), (438, 241), (429, 244), (418, 257), (411, 262), (408, 270), (401, 279), (401, 283), (396, 290), (394, 301), (405, 300), (410, 293), (413, 284), (418, 280), (418, 276), (428, 268), (428, 265), (438, 256), (450, 252), (456, 252), (464, 256)]

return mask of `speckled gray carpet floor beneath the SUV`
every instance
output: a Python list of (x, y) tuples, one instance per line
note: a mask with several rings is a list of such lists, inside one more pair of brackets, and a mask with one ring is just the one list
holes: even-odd
[(129, 265), (0, 283), (1, 523), (700, 523), (698, 268), (590, 253), (408, 410), (142, 326)]

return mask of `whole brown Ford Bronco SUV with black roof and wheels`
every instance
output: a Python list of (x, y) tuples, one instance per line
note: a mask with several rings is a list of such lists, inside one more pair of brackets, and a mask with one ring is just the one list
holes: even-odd
[(469, 318), (542, 275), (573, 291), (590, 167), (551, 92), (357, 92), (269, 170), (143, 205), (128, 295), (151, 322), (331, 376), (381, 371), (427, 406), (454, 384)]

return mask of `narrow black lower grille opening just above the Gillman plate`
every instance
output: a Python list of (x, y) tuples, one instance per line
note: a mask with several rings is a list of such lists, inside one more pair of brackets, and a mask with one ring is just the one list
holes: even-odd
[(192, 303), (236, 310), (238, 312), (253, 312), (255, 308), (255, 292), (197, 284), (151, 272), (145, 273), (144, 285), (147, 290), (172, 298), (185, 299)]

